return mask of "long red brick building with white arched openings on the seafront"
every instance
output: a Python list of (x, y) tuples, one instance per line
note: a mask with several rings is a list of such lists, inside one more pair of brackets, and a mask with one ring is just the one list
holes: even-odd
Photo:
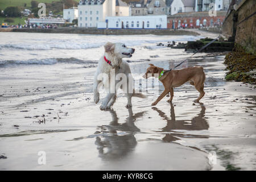
[(221, 26), (225, 19), (226, 11), (217, 11), (216, 16), (209, 16), (208, 11), (177, 13), (168, 16), (167, 28), (214, 27)]

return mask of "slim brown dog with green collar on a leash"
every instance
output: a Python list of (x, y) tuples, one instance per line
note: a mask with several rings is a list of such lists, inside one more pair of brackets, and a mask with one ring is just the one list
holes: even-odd
[[(161, 75), (161, 73), (163, 74)], [(159, 78), (164, 85), (164, 92), (152, 103), (152, 106), (158, 104), (169, 92), (171, 93), (171, 98), (168, 102), (171, 102), (174, 97), (174, 88), (183, 85), (187, 81), (190, 81), (189, 83), (194, 85), (197, 91), (200, 92), (200, 96), (195, 102), (199, 102), (199, 100), (204, 97), (205, 73), (203, 67), (184, 68), (166, 72), (163, 68), (155, 67), (154, 64), (150, 64), (150, 67), (147, 68), (147, 72), (143, 77), (149, 78), (151, 76)]]

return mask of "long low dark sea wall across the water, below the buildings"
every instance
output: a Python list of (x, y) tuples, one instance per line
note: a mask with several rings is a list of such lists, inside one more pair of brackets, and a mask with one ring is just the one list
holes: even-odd
[(55, 34), (94, 34), (94, 35), (200, 35), (188, 30), (172, 29), (97, 29), (97, 28), (0, 28), (0, 32), (31, 32), (31, 33), (55, 33)]

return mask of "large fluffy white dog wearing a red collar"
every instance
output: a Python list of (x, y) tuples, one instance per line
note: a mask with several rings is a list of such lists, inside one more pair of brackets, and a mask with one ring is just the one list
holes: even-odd
[[(131, 97), (141, 97), (145, 98), (145, 96), (141, 93), (135, 93), (134, 89), (130, 87), (131, 92), (129, 92), (129, 80), (130, 82), (133, 81), (133, 78), (131, 77), (131, 70), (129, 67), (129, 64), (126, 61), (123, 61), (122, 59), (125, 57), (131, 57), (134, 53), (134, 48), (127, 48), (125, 44), (123, 43), (106, 43), (105, 46), (105, 53), (104, 56), (101, 57), (97, 71), (94, 75), (94, 85), (93, 85), (93, 92), (94, 92), (94, 102), (97, 104), (100, 100), (100, 94), (98, 93), (99, 84), (103, 84), (105, 89), (108, 89), (108, 95), (105, 97), (104, 101), (102, 102), (100, 109), (106, 110), (110, 109), (110, 107), (114, 104), (116, 98), (117, 98), (117, 90), (118, 88), (118, 82), (115, 80), (115, 76), (118, 73), (122, 73), (121, 75), (125, 75), (127, 78), (127, 86), (120, 85), (123, 91), (125, 92), (125, 95), (127, 97), (127, 105), (126, 107), (131, 107)], [(114, 71), (114, 85), (110, 82), (111, 74), (110, 72)], [(101, 77), (101, 73), (105, 73), (105, 77), (103, 77), (102, 80), (99, 79)], [(104, 74), (103, 74), (104, 75)], [(107, 76), (107, 77), (106, 77)], [(104, 79), (105, 78), (105, 79)], [(122, 80), (123, 81), (123, 80)], [(109, 84), (110, 83), (110, 84)], [(110, 85), (110, 86), (109, 86)], [(115, 86), (115, 88), (113, 88)], [(132, 85), (131, 85), (132, 86)], [(110, 90), (114, 90), (114, 92), (110, 92)]]

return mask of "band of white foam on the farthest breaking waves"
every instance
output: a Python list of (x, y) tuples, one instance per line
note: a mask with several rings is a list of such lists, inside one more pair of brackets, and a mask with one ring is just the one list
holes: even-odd
[(49, 49), (89, 49), (104, 46), (106, 42), (123, 42), (127, 46), (144, 46), (145, 44), (154, 44), (158, 42), (167, 43), (171, 41), (192, 41), (199, 39), (199, 36), (154, 36), (148, 35), (146, 38), (144, 36), (112, 36), (100, 38), (90, 38), (85, 36), (85, 38), (80, 39), (40, 39), (33, 40), (29, 42), (20, 42), (14, 44), (0, 44), (0, 49), (27, 49), (27, 50), (49, 50)]

